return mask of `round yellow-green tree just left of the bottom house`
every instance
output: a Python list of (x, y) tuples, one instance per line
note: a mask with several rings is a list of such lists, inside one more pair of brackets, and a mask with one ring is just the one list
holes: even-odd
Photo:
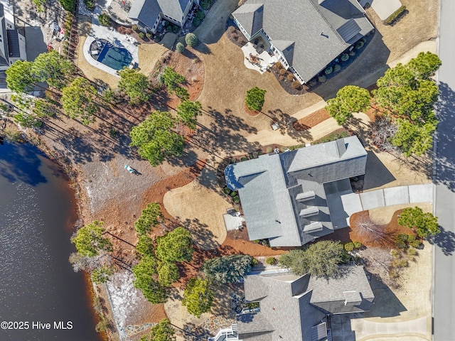
[(213, 291), (209, 288), (208, 279), (191, 278), (186, 283), (182, 304), (186, 305), (188, 313), (200, 318), (200, 315), (210, 311), (213, 303)]

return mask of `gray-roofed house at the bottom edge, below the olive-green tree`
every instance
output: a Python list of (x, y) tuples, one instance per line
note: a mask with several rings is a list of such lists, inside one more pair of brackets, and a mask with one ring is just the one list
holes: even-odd
[(375, 298), (363, 266), (341, 268), (342, 276), (329, 279), (289, 272), (245, 276), (245, 300), (259, 309), (237, 315), (228, 340), (332, 340), (328, 315), (363, 313)]

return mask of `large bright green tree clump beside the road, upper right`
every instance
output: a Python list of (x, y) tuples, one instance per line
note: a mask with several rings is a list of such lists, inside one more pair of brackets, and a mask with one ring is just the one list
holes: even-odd
[(373, 91), (375, 100), (390, 117), (390, 126), (397, 129), (388, 134), (387, 142), (405, 156), (419, 156), (432, 147), (439, 89), (431, 77), (440, 65), (437, 55), (419, 53), (406, 65), (387, 70), (377, 82), (378, 90)]

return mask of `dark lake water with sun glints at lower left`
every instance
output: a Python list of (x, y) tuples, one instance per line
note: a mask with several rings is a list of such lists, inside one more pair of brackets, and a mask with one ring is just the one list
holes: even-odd
[(57, 164), (28, 144), (0, 145), (0, 321), (23, 328), (0, 322), (1, 341), (102, 340), (85, 278), (68, 263), (74, 212)]

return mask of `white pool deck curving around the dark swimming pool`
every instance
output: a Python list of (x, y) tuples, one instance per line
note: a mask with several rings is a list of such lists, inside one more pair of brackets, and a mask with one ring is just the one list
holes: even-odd
[[(110, 1), (107, 1), (105, 6), (109, 6), (109, 2)], [(137, 65), (139, 64), (138, 53), (139, 47), (134, 45), (133, 43), (134, 38), (126, 34), (120, 34), (117, 31), (115, 31), (114, 28), (112, 27), (101, 26), (100, 22), (98, 21), (98, 16), (100, 16), (102, 11), (103, 9), (100, 6), (98, 5), (95, 6), (95, 11), (93, 11), (92, 14), (92, 30), (87, 36), (87, 39), (85, 39), (85, 43), (82, 50), (84, 51), (85, 60), (87, 60), (87, 62), (90, 65), (95, 66), (100, 70), (109, 73), (109, 75), (120, 77), (117, 74), (117, 70), (114, 70), (111, 67), (104, 65), (103, 63), (100, 63), (92, 58), (92, 56), (88, 52), (90, 50), (90, 45), (92, 45), (93, 41), (96, 40), (97, 38), (104, 38), (110, 43), (112, 43), (112, 45), (117, 46), (118, 48), (126, 48), (132, 55), (133, 58), (132, 63), (137, 63)]]

